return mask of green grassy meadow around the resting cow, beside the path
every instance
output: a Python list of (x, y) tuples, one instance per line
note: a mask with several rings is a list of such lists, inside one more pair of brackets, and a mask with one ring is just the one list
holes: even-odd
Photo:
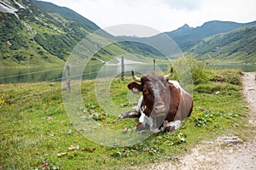
[[(199, 75), (195, 75), (199, 74)], [(129, 169), (157, 161), (177, 161), (203, 140), (234, 134), (247, 139), (247, 106), (241, 71), (195, 70), (195, 109), (175, 133), (157, 133), (139, 144), (110, 147), (79, 133), (65, 112), (61, 82), (0, 85), (0, 169)], [(126, 84), (115, 79), (113, 103), (127, 104)], [(83, 108), (102, 127), (134, 129), (137, 118), (118, 119), (102, 111), (95, 81), (83, 81)], [(23, 96), (22, 98), (20, 98)], [(120, 113), (132, 107), (120, 107)]]

